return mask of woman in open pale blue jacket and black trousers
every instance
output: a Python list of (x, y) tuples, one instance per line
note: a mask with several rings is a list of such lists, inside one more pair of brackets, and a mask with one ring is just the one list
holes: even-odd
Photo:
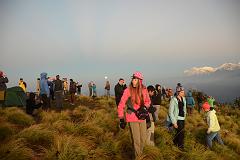
[(170, 101), (168, 119), (176, 129), (176, 135), (174, 136), (174, 144), (179, 149), (184, 149), (184, 120), (186, 118), (186, 99), (184, 97), (183, 87), (179, 87), (176, 96)]

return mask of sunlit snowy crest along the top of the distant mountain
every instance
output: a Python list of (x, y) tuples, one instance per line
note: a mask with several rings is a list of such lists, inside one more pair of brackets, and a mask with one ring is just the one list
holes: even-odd
[(185, 70), (184, 73), (186, 75), (192, 76), (192, 75), (203, 75), (203, 74), (210, 74), (217, 71), (234, 71), (234, 70), (240, 70), (240, 62), (239, 63), (224, 63), (219, 67), (193, 67), (191, 69)]

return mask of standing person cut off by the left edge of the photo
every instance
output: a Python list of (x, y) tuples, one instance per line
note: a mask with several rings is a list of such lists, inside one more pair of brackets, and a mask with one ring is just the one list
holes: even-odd
[(8, 83), (8, 78), (2, 71), (0, 71), (0, 106), (4, 104), (5, 92), (7, 89), (6, 83)]

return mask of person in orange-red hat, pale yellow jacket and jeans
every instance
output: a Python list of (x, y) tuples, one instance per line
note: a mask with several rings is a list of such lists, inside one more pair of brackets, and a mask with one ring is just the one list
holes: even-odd
[(220, 125), (218, 123), (216, 111), (207, 102), (202, 105), (202, 109), (204, 112), (206, 112), (207, 124), (208, 124), (208, 130), (207, 130), (207, 136), (206, 136), (207, 146), (209, 148), (212, 148), (213, 139), (216, 139), (219, 144), (223, 145), (223, 141), (219, 133)]

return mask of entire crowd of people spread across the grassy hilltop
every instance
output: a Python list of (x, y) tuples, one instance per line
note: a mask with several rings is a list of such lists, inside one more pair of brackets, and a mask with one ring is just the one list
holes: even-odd
[[(169, 101), (168, 114), (166, 117), (166, 127), (172, 132), (175, 130), (173, 143), (180, 149), (184, 150), (184, 130), (186, 116), (193, 114), (193, 109), (197, 106), (198, 112), (202, 110), (206, 113), (208, 129), (206, 132), (206, 144), (212, 147), (213, 139), (220, 144), (223, 141), (220, 137), (220, 126), (214, 110), (215, 99), (211, 96), (204, 96), (199, 93), (195, 103), (193, 93), (189, 90), (185, 95), (185, 89), (181, 83), (176, 86), (175, 92), (171, 88), (162, 87), (160, 84), (155, 86), (145, 86), (143, 84), (143, 75), (135, 72), (131, 77), (131, 82), (127, 86), (123, 78), (120, 78), (114, 87), (115, 101), (119, 117), (119, 126), (125, 129), (127, 124), (133, 141), (135, 156), (143, 152), (144, 146), (154, 146), (154, 130), (159, 122), (159, 111), (161, 110), (162, 101)], [(8, 78), (6, 74), (0, 71), (0, 102), (4, 101), (7, 89), (6, 83)], [(19, 87), (23, 92), (27, 92), (27, 84), (20, 78)], [(105, 95), (110, 97), (110, 82), (106, 81)], [(62, 110), (63, 100), (70, 95), (70, 105), (75, 105), (75, 95), (81, 95), (82, 84), (70, 79), (68, 85), (67, 78), (60, 79), (59, 75), (55, 78), (47, 77), (47, 73), (40, 74), (37, 78), (36, 92), (28, 93), (26, 103), (26, 112), (32, 114), (34, 109), (42, 107), (48, 111), (51, 101), (55, 101), (56, 108)], [(91, 81), (88, 83), (89, 96), (97, 96), (96, 84)]]

